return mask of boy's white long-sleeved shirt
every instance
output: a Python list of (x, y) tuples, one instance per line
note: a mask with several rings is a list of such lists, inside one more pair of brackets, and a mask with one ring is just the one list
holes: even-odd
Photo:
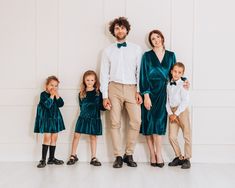
[[(181, 79), (175, 82), (176, 85), (167, 84), (166, 110), (169, 115), (179, 116), (189, 105), (189, 91), (183, 87), (184, 81)], [(178, 107), (175, 113), (172, 112), (172, 107)]]

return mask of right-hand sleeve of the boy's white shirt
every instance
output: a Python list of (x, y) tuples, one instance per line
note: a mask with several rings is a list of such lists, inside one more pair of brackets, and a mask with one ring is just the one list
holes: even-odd
[(185, 111), (189, 105), (189, 91), (186, 90), (183, 86), (180, 89), (181, 103), (175, 111), (175, 115), (179, 116), (180, 113)]

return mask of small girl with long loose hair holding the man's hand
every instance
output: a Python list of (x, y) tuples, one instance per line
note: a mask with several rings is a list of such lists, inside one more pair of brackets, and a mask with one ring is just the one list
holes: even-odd
[(97, 135), (102, 135), (102, 123), (100, 110), (103, 107), (102, 93), (99, 90), (100, 83), (94, 71), (86, 71), (79, 92), (80, 115), (78, 117), (72, 142), (72, 152), (67, 165), (73, 165), (78, 161), (76, 150), (81, 134), (90, 135), (91, 161), (94, 166), (101, 166), (96, 158)]

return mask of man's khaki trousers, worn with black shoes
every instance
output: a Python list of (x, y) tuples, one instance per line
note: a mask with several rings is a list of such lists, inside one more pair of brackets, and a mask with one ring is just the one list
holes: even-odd
[(114, 156), (122, 156), (122, 139), (121, 139), (121, 114), (125, 108), (129, 115), (129, 127), (127, 133), (127, 143), (125, 153), (132, 155), (139, 135), (141, 124), (141, 109), (136, 103), (136, 85), (120, 84), (116, 82), (109, 83), (109, 99), (111, 102), (110, 119), (111, 119), (111, 137), (113, 143)]

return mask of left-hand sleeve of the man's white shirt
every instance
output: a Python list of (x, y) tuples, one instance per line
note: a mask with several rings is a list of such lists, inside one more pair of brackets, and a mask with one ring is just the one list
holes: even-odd
[(110, 62), (106, 50), (103, 51), (100, 67), (100, 90), (103, 93), (103, 98), (108, 98), (108, 84), (110, 74)]

